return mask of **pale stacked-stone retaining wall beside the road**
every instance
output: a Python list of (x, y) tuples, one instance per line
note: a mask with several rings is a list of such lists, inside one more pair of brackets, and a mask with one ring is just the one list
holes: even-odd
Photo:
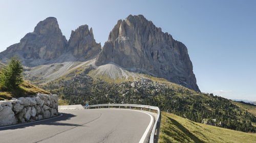
[(37, 94), (34, 97), (0, 101), (0, 126), (33, 122), (58, 114), (58, 96)]

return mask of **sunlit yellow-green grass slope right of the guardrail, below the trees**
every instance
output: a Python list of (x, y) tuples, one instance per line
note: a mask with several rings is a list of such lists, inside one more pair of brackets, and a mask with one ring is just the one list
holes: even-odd
[(159, 143), (163, 142), (256, 142), (255, 133), (245, 133), (196, 123), (162, 112)]

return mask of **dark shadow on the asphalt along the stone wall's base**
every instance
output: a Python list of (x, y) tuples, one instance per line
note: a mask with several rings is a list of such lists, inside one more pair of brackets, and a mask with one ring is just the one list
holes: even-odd
[(26, 128), (26, 127), (33, 127), (36, 125), (49, 125), (49, 126), (82, 126), (82, 125), (78, 125), (78, 124), (69, 124), (69, 123), (58, 123), (58, 121), (67, 121), (70, 120), (73, 117), (76, 117), (75, 115), (71, 114), (71, 113), (61, 113), (62, 116), (58, 117), (58, 118), (54, 118), (54, 119), (50, 119), (50, 120), (46, 120), (46, 121), (39, 121), (39, 122), (31, 122), (29, 124), (20, 124), (20, 125), (16, 125), (13, 127), (6, 127), (6, 128), (2, 128), (0, 129), (0, 131), (3, 130), (15, 130), (15, 129), (22, 129), (22, 128)]

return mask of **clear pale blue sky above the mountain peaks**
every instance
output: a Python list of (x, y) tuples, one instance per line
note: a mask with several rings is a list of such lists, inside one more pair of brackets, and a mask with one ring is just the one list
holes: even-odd
[(53, 16), (70, 38), (88, 24), (103, 46), (119, 19), (144, 15), (184, 43), (202, 92), (256, 101), (256, 1), (4, 1), (0, 0), (0, 52)]

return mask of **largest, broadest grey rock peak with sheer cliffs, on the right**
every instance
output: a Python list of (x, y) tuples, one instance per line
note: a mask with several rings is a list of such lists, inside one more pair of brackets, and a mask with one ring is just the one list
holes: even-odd
[(114, 26), (95, 62), (108, 63), (199, 91), (186, 46), (142, 15), (130, 15)]

